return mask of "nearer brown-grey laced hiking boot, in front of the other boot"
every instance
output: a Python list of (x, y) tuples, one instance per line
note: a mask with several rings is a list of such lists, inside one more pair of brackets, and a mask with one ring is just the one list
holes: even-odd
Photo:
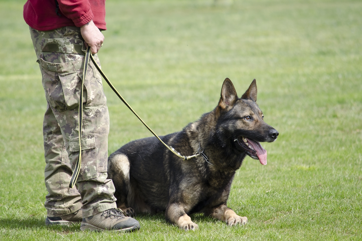
[(125, 216), (119, 208), (110, 208), (99, 214), (83, 218), (80, 230), (91, 231), (134, 231), (139, 229), (136, 219)]

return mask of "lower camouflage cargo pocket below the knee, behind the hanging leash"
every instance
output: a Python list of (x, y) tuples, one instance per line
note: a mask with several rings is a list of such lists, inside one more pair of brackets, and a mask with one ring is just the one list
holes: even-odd
[[(97, 160), (96, 160), (96, 138), (94, 135), (86, 135), (81, 137), (80, 145), (82, 147), (81, 170), (78, 181), (89, 180), (97, 177)], [(71, 155), (79, 155), (79, 137), (70, 139), (69, 152)], [(74, 158), (73, 160), (77, 160)], [(75, 163), (72, 163), (74, 170)]]

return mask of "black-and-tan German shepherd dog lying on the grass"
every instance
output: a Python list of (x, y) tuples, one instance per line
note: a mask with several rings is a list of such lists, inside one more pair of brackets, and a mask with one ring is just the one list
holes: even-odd
[(218, 106), (181, 132), (160, 137), (181, 155), (174, 155), (156, 137), (131, 141), (108, 158), (108, 177), (115, 185), (117, 206), (127, 215), (165, 212), (166, 220), (184, 230), (197, 224), (189, 214), (245, 224), (226, 205), (235, 171), (246, 155), (266, 165), (266, 150), (259, 142), (273, 142), (278, 132), (263, 120), (256, 104), (255, 79), (239, 99), (226, 78)]

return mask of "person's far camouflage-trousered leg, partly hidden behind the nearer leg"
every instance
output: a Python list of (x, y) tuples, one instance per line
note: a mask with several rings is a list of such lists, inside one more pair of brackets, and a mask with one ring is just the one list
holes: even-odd
[[(37, 57), (41, 53), (43, 36), (37, 30), (30, 28), (31, 38)], [(41, 72), (42, 72), (42, 68)], [(43, 75), (43, 73), (42, 73)], [(45, 152), (45, 185), (48, 191), (45, 208), (47, 210), (46, 224), (70, 224), (82, 220), (79, 211), (82, 203), (77, 188), (69, 188), (72, 175), (71, 163), (64, 145), (60, 126), (48, 103), (43, 121), (43, 137)], [(62, 216), (62, 218), (57, 218)]]

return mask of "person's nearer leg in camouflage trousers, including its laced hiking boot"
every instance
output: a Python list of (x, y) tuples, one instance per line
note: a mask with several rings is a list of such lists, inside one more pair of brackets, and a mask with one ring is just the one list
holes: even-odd
[[(34, 38), (41, 42), (38, 62), (42, 70), (46, 99), (58, 122), (74, 169), (79, 155), (78, 105), (80, 81), (83, 77), (84, 53), (80, 52), (83, 39), (76, 27), (60, 28), (51, 34), (37, 32)], [(37, 51), (36, 47), (35, 50)], [(94, 57), (97, 59), (96, 55)], [(100, 74), (93, 71), (93, 64), (89, 67), (82, 100), (82, 163), (76, 183), (83, 204), (81, 229), (138, 229), (138, 221), (123, 216), (116, 209), (114, 185), (107, 178), (108, 108)]]

